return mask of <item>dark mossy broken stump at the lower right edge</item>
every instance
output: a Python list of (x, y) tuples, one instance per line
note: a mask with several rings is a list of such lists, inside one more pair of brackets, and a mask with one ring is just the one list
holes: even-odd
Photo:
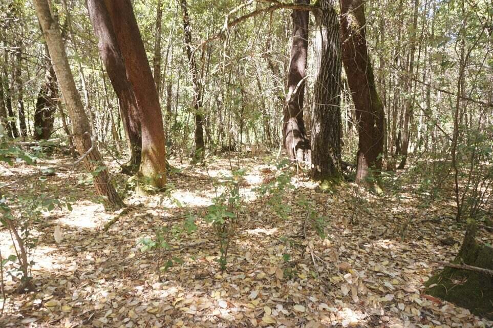
[[(475, 241), (476, 224), (470, 222), (453, 263), (493, 269), (493, 249)], [(493, 320), (493, 276), (446, 267), (427, 281), (426, 294), (455, 303), (472, 313)]]

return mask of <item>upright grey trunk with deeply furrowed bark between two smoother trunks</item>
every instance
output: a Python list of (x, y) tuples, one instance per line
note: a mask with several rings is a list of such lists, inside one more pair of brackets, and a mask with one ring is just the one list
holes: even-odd
[(315, 14), (318, 72), (313, 92), (311, 123), (314, 179), (338, 179), (341, 175), (340, 31), (335, 0), (322, 0)]

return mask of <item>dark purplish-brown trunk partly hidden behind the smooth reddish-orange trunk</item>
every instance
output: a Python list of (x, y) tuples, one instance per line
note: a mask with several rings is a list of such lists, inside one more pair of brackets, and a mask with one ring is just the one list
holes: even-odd
[(130, 160), (122, 165), (122, 172), (133, 175), (139, 170), (142, 156), (141, 121), (137, 100), (132, 85), (127, 79), (123, 56), (108, 9), (100, 0), (87, 0), (86, 5), (94, 34), (98, 39), (99, 54), (118, 96), (120, 116), (130, 149)]

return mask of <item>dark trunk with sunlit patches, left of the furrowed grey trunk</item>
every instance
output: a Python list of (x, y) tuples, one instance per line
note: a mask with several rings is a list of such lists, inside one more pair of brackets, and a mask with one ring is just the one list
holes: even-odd
[[(310, 0), (295, 0), (294, 3), (308, 5)], [(307, 138), (303, 120), (309, 11), (295, 9), (291, 17), (293, 18), (293, 36), (286, 83), (287, 96), (283, 106), (283, 141), (286, 153), (291, 160), (305, 161), (309, 159), (310, 150), (310, 140)]]

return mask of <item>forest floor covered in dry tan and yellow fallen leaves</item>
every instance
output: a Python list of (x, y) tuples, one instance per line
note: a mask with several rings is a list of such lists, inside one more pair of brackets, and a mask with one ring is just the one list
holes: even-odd
[[(264, 159), (241, 160), (247, 170), (241, 185), (244, 206), (224, 272), (217, 262), (218, 236), (202, 218), (221, 191), (223, 175), (231, 175), (227, 158), (210, 159), (206, 167), (170, 160), (181, 169), (169, 176), (175, 186), (170, 195), (130, 193), (125, 199), (130, 207), (107, 232), (104, 224), (119, 212), (105, 212), (91, 201), (91, 185), (77, 185), (85, 176), (82, 168), (57, 171), (39, 192), (73, 196), (73, 210), (51, 211), (37, 224), (32, 271), (37, 290), (12, 293), (15, 283), (7, 279), (10, 295), (0, 326), (493, 326), (423, 294), (423, 283), (440, 269), (438, 262), (451, 261), (463, 239), (465, 228), (456, 226), (451, 199), (422, 207), (413, 186), (399, 196), (372, 195), (352, 183), (320, 192), (299, 177), (283, 197), (281, 207), (291, 211), (281, 218), (280, 204), (252, 190), (266, 179), (265, 172), (275, 171)], [(115, 163), (112, 171), (117, 171)], [(0, 183), (12, 182), (6, 188), (22, 195), (30, 183), (25, 176), (34, 172), (18, 163), (3, 166)], [(115, 176), (119, 183), (125, 179)], [(300, 199), (327, 218), (325, 239), (307, 225), (307, 207)], [(162, 256), (183, 263), (159, 281), (156, 253), (141, 252), (139, 240), (189, 214), (197, 217), (198, 230), (170, 241), (176, 250)], [(63, 237), (59, 244), (57, 225)], [(492, 241), (485, 232), (478, 238)], [(2, 254), (12, 254), (7, 231), (0, 230), (0, 242)]]

